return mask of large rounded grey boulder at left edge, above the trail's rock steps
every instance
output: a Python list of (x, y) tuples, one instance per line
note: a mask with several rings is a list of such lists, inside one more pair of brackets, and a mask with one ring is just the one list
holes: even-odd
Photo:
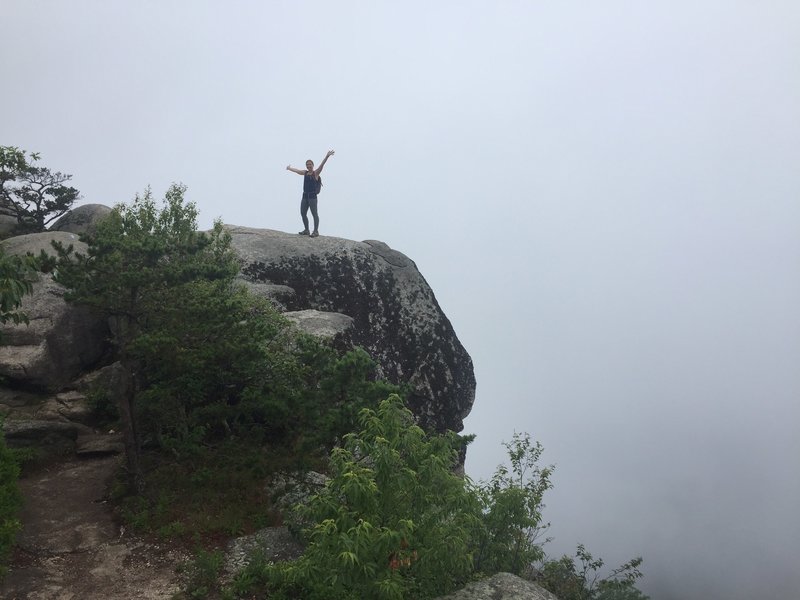
[(66, 303), (64, 288), (51, 275), (33, 284), (21, 310), (29, 324), (0, 326), (0, 376), (12, 384), (60, 391), (104, 355), (105, 321), (85, 307)]

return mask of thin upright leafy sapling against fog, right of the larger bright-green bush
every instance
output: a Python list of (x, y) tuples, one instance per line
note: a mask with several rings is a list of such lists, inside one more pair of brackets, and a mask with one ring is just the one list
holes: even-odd
[(546, 528), (541, 510), (544, 493), (552, 487), (553, 467), (540, 467), (543, 448), (530, 435), (514, 434), (504, 444), (511, 470), (500, 465), (492, 479), (479, 488), (484, 527), (478, 541), (476, 569), (525, 575), (544, 557), (537, 538)]

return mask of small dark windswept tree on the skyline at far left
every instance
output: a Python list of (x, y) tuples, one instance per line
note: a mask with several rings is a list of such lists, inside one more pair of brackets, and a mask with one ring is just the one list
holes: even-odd
[(65, 185), (72, 175), (54, 173), (38, 160), (36, 152), (0, 146), (0, 215), (15, 218), (18, 233), (44, 231), (80, 197)]

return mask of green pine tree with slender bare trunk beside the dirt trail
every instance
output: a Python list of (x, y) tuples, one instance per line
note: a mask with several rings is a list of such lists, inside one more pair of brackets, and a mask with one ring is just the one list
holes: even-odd
[(197, 281), (232, 281), (238, 261), (220, 222), (209, 234), (198, 232), (197, 210), (184, 202), (183, 185), (172, 185), (159, 211), (148, 189), (131, 205), (118, 205), (89, 239), (87, 255), (72, 256), (59, 244), (56, 279), (67, 300), (89, 305), (109, 317), (112, 340), (123, 367), (120, 419), (129, 474), (143, 488), (135, 399), (140, 361), (132, 344), (148, 331), (167, 294)]

